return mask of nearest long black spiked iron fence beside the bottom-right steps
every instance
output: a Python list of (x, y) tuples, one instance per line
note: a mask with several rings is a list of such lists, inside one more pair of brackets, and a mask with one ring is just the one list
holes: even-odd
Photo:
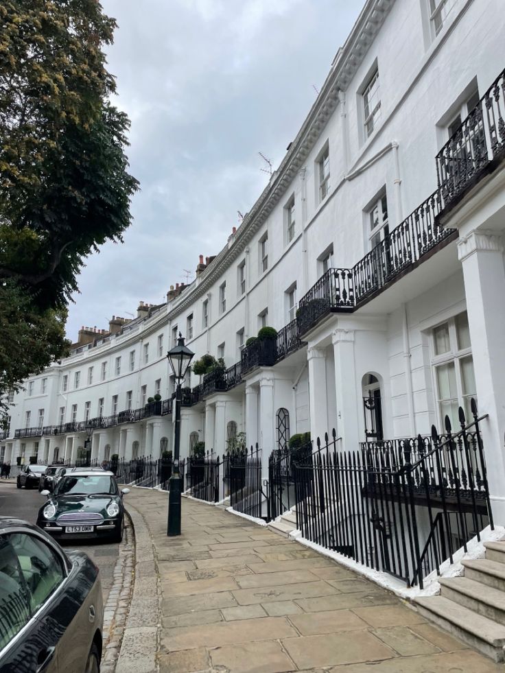
[[(431, 439), (338, 452), (336, 433), (294, 466), (296, 523), (303, 536), (419, 585), (493, 517), (480, 422), (460, 408), (461, 429)], [(415, 452), (414, 452), (415, 449)], [(415, 460), (414, 460), (415, 458)]]

